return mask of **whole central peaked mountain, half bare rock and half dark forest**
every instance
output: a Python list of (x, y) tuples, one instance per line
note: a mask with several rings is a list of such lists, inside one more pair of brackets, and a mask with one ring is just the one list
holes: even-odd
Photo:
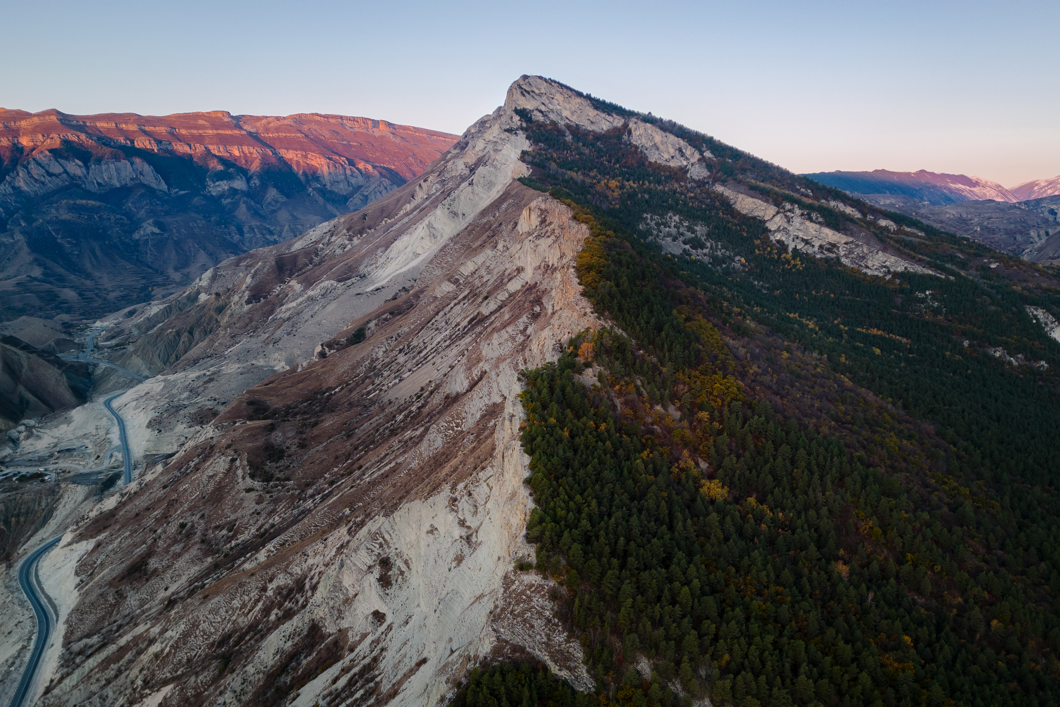
[(522, 76), (352, 213), (23, 321), (93, 368), (0, 449), (0, 697), (1050, 704), (1058, 288)]

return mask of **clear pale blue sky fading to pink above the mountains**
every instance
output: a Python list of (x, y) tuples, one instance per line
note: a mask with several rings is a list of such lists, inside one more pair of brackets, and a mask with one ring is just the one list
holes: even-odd
[(799, 173), (1060, 174), (1060, 2), (5, 0), (0, 106), (462, 132), (541, 74)]

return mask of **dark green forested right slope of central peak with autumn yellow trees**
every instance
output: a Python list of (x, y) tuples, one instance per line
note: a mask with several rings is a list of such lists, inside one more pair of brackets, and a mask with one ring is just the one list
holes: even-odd
[[(709, 176), (519, 113), (615, 326), (525, 373), (533, 566), (605, 695), (555, 704), (1055, 704), (1055, 270), (591, 101)], [(851, 267), (784, 210), (905, 265)], [(540, 682), (495, 668), (457, 703)]]

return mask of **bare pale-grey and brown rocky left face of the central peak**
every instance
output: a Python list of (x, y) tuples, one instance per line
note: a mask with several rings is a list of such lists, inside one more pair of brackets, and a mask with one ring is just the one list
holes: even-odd
[[(414, 182), (102, 322), (101, 355), (159, 373), (118, 400), (134, 457), (177, 456), (42, 565), (67, 589), (39, 704), (435, 705), (526, 653), (590, 686), (549, 584), (513, 566), (531, 553), (518, 371), (602, 323), (573, 268), (587, 229), (515, 180), (516, 109), (711, 171), (524, 76)], [(75, 413), (23, 444), (63, 444)]]

